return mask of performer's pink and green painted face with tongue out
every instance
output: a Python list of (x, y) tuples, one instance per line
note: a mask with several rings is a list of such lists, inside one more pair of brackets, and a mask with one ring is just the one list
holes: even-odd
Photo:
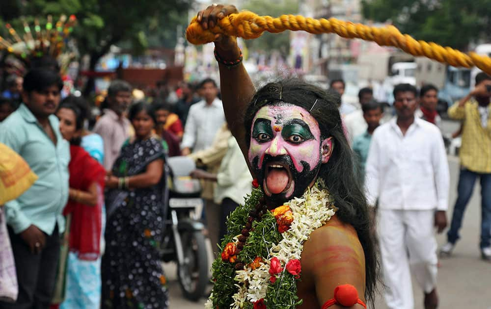
[(331, 139), (321, 140), (317, 121), (299, 106), (267, 105), (252, 121), (249, 163), (273, 202), (301, 196), (331, 149)]

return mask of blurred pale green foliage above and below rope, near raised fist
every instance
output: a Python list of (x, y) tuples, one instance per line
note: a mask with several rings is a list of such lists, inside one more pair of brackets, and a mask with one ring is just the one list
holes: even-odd
[[(244, 7), (239, 7), (239, 10), (246, 9), (258, 15), (269, 15), (278, 17), (283, 14), (298, 14), (298, 0), (281, 0), (281, 1), (264, 1), (264, 0), (248, 0)], [(246, 41), (247, 47), (254, 51), (262, 51), (271, 53), (273, 51), (280, 52), (283, 56), (288, 55), (290, 50), (290, 33), (285, 31), (282, 33), (265, 32), (261, 37)]]

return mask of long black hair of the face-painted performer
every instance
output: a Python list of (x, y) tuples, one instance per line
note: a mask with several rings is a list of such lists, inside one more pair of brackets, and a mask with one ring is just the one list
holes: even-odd
[(321, 140), (332, 137), (331, 157), (321, 165), (318, 177), (324, 180), (333, 197), (339, 219), (351, 224), (358, 234), (365, 254), (365, 298), (373, 304), (380, 268), (375, 232), (371, 227), (374, 223), (370, 222), (369, 206), (344, 133), (339, 100), (338, 94), (326, 92), (297, 78), (269, 83), (256, 92), (246, 109), (246, 143), (250, 146), (250, 128), (257, 111), (266, 105), (282, 103), (291, 103), (309, 111), (319, 124)]

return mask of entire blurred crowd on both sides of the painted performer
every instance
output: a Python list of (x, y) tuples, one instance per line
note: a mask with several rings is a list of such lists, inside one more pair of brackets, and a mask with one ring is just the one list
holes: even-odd
[[(461, 170), (448, 242), (440, 250), (434, 227), (443, 232), (447, 226), (450, 175), (438, 89), (396, 85), (395, 117), (384, 121), (372, 89), (362, 88), (359, 106), (352, 106), (343, 102), (344, 86), (332, 80), (329, 91), (339, 98), (356, 175), (378, 222), (386, 303), (414, 307), (412, 271), (425, 308), (436, 308), (438, 252), (451, 256), (477, 178), (481, 256), (491, 260), (491, 77), (478, 74), (475, 89), (448, 110), (463, 123)], [(219, 87), (211, 78), (197, 86), (183, 82), (174, 103), (165, 96), (149, 102), (135, 100), (129, 83), (113, 80), (93, 128), (90, 104), (62, 99), (62, 87), (56, 70), (31, 68), (24, 77), (8, 77), (0, 99), (0, 142), (38, 177), (1, 208), (18, 295), (14, 303), (0, 301), (0, 308), (167, 308), (158, 247), (166, 158), (188, 155), (196, 163), (190, 176), (203, 181), (203, 220), (216, 253), (227, 216), (252, 190)]]

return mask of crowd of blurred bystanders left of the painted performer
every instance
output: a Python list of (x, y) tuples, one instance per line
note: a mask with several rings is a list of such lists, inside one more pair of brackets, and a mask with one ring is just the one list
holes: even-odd
[(167, 308), (158, 247), (165, 158), (196, 162), (191, 176), (203, 180), (214, 244), (252, 188), (218, 85), (183, 82), (169, 103), (137, 101), (130, 84), (114, 80), (94, 126), (90, 104), (62, 99), (62, 87), (56, 70), (32, 68), (7, 78), (1, 99), (0, 141), (39, 179), (2, 206), (18, 295), (0, 308)]

